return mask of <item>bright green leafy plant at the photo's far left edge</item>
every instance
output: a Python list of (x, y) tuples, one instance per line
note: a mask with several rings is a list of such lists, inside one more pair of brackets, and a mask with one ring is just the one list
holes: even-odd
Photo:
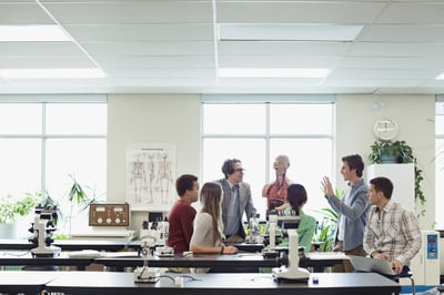
[(40, 199), (41, 193), (24, 193), (21, 199), (12, 195), (0, 197), (0, 223), (14, 223), (17, 217), (32, 213)]

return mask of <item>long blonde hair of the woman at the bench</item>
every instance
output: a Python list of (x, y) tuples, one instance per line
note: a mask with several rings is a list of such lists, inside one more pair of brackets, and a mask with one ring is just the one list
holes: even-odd
[(220, 232), (220, 222), (222, 186), (216, 182), (204, 183), (201, 190), (200, 200), (202, 203), (202, 212), (205, 212), (213, 217), (214, 241), (221, 240), (222, 233)]

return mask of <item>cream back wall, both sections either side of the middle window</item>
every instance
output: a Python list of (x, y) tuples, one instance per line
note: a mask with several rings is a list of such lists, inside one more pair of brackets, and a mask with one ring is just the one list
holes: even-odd
[[(375, 110), (374, 102), (383, 106)], [(344, 186), (341, 156), (359, 153), (366, 164), (375, 141), (372, 126), (381, 116), (400, 125), (398, 140), (413, 148), (424, 171), (423, 192), (426, 216), (422, 228), (430, 230), (435, 216), (434, 202), (434, 95), (337, 95), (336, 103), (336, 185)], [(199, 94), (110, 94), (108, 130), (108, 201), (124, 202), (125, 148), (132, 142), (171, 142), (176, 145), (176, 175), (200, 175)], [(365, 175), (364, 175), (365, 176)], [(132, 226), (140, 227), (145, 215), (134, 214)]]

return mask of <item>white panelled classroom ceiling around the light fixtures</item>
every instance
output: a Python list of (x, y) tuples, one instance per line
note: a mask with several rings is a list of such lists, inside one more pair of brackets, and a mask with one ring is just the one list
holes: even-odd
[[(0, 24), (64, 42), (0, 42), (1, 69), (94, 68), (103, 79), (6, 79), (0, 93), (443, 93), (444, 1), (0, 0)], [(353, 41), (225, 41), (224, 24), (363, 26)], [(310, 39), (310, 38), (309, 38)], [(218, 78), (323, 68), (326, 78)]]

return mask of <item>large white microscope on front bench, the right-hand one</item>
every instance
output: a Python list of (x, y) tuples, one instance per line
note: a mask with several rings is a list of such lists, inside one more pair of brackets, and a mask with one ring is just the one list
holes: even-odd
[(297, 281), (307, 282), (310, 272), (305, 268), (299, 267), (299, 216), (278, 216), (278, 224), (281, 224), (282, 231), (285, 231), (289, 236), (289, 263), (287, 266), (273, 268), (273, 277), (276, 281)]

